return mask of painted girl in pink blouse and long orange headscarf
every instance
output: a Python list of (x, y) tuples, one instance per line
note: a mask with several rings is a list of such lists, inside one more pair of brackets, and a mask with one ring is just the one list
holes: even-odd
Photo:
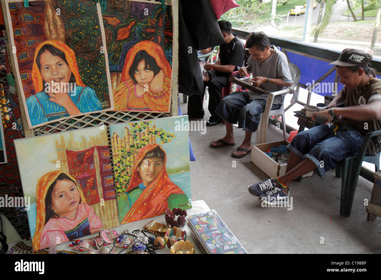
[(99, 232), (102, 221), (75, 179), (66, 171), (51, 171), (37, 181), (34, 251)]

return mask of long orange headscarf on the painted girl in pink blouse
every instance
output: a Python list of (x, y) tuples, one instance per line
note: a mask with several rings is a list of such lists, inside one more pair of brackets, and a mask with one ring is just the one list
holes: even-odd
[[(48, 192), (51, 184), (62, 173), (65, 173), (67, 176), (69, 176), (70, 179), (72, 179), (74, 182), (76, 182), (73, 176), (71, 176), (68, 172), (63, 171), (63, 170), (50, 171), (49, 173), (46, 173), (44, 176), (42, 176), (37, 181), (37, 187), (36, 187), (37, 220), (36, 220), (36, 230), (35, 230), (34, 236), (32, 238), (32, 244), (33, 244), (34, 251), (40, 250), (40, 235), (41, 235), (43, 227), (45, 226), (45, 214), (46, 214), (45, 198), (46, 198), (46, 193)], [(81, 187), (78, 186), (78, 184), (76, 184), (76, 185), (77, 185), (77, 189), (79, 192), (79, 196), (81, 198), (81, 203), (86, 203), (86, 198), (83, 195)]]

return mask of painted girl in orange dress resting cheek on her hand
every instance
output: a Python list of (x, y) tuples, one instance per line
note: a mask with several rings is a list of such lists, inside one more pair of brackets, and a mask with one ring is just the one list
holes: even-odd
[(113, 91), (115, 110), (169, 112), (171, 64), (152, 41), (135, 44), (126, 54), (120, 83)]

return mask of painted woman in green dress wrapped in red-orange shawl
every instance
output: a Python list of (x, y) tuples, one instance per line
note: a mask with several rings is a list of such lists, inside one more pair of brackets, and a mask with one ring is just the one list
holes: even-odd
[(188, 204), (188, 197), (169, 178), (166, 153), (158, 144), (139, 150), (127, 190), (118, 198), (121, 224), (164, 214)]

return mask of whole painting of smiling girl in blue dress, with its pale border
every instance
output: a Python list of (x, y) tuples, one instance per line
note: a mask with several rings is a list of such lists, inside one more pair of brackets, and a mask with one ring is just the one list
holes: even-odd
[(30, 129), (114, 109), (99, 3), (30, 0), (25, 7), (23, 0), (2, 2)]

